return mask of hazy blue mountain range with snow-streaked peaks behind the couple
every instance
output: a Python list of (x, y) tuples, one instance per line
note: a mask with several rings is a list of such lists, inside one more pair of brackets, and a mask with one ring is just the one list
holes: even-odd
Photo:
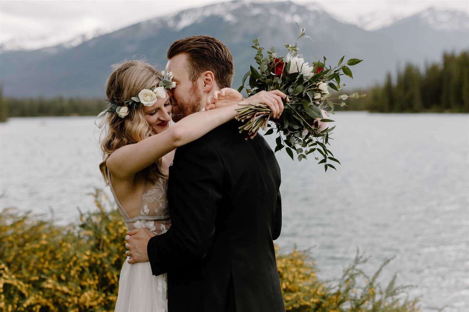
[[(378, 30), (364, 30), (341, 22), (318, 6), (292, 2), (233, 1), (192, 8), (106, 33), (78, 45), (58, 45), (34, 51), (0, 54), (0, 80), (6, 96), (104, 97), (111, 64), (145, 55), (163, 68), (167, 47), (179, 38), (210, 35), (219, 38), (234, 57), (233, 87), (254, 63), (253, 38), (261, 46), (276, 47), (298, 37), (295, 22), (306, 28), (314, 42), (300, 39), (300, 52), (308, 61), (315, 57), (335, 66), (346, 54), (364, 59), (352, 67), (350, 88), (365, 87), (384, 79), (406, 62), (424, 66), (440, 61), (444, 51), (469, 49), (469, 16), (460, 12), (428, 9)], [(369, 22), (369, 21), (368, 21)]]

